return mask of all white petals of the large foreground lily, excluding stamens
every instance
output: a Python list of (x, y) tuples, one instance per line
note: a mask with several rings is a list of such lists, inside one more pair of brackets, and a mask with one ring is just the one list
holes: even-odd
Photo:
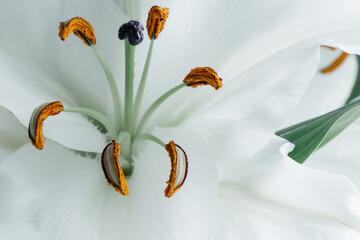
[[(99, 159), (69, 150), (102, 152), (109, 135), (82, 116), (61, 112), (46, 119), (42, 151), (29, 143), (2, 161), (0, 238), (358, 239), (360, 201), (352, 182), (295, 163), (286, 156), (291, 145), (273, 133), (315, 74), (321, 41), (360, 52), (353, 41), (359, 3), (164, 4), (171, 12), (154, 44), (144, 102), (179, 84), (193, 67), (212, 66), (224, 79), (216, 93), (186, 89), (174, 95), (147, 127), (168, 127), (152, 134), (186, 149), (186, 184), (165, 198), (167, 153), (142, 143), (132, 152), (130, 194), (120, 195), (107, 186)], [(75, 16), (89, 20), (99, 50), (123, 86), (124, 50), (116, 30), (130, 19), (145, 22), (151, 6), (148, 1), (4, 2), (0, 105), (26, 127), (36, 107), (58, 100), (115, 119), (111, 91), (91, 49), (74, 37), (61, 43), (58, 22)], [(149, 44), (145, 40), (137, 47), (136, 69), (142, 69)], [(8, 135), (0, 137), (5, 141)]]

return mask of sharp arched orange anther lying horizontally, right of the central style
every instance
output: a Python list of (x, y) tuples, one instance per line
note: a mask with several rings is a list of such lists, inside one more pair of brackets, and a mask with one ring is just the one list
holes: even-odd
[(214, 69), (210, 67), (198, 67), (190, 71), (185, 77), (184, 83), (188, 83), (188, 87), (198, 87), (201, 85), (210, 85), (215, 90), (218, 90), (223, 86), (222, 79)]

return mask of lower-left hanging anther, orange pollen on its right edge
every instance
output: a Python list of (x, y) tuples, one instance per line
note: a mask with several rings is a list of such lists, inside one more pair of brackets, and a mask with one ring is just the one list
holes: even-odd
[(101, 166), (109, 185), (126, 196), (129, 195), (129, 188), (119, 163), (120, 150), (120, 145), (115, 140), (109, 143), (101, 155)]

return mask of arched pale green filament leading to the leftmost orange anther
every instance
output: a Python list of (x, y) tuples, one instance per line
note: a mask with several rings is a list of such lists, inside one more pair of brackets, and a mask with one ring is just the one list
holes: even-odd
[(84, 116), (91, 117), (97, 121), (99, 121), (108, 131), (109, 135), (114, 138), (116, 136), (116, 130), (114, 129), (113, 125), (111, 124), (110, 120), (101, 112), (90, 108), (80, 108), (80, 107), (64, 107), (64, 112), (73, 112), (79, 113)]

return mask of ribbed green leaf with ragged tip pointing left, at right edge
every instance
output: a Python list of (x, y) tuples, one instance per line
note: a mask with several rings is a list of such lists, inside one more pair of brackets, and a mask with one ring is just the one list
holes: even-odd
[(322, 116), (277, 131), (275, 134), (295, 145), (289, 156), (303, 163), (360, 116), (360, 100), (338, 108)]

